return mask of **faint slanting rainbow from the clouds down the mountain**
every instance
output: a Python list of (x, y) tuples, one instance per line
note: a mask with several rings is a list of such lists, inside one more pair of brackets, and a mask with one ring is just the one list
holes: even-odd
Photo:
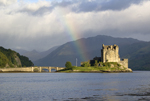
[(80, 38), (79, 32), (76, 29), (76, 25), (73, 23), (73, 19), (67, 19), (64, 15), (63, 12), (59, 12), (58, 17), (61, 21), (61, 24), (65, 27), (66, 33), (68, 36), (71, 38), (71, 40), (75, 41), (74, 47), (77, 49), (78, 54), (80, 55), (80, 60), (82, 61), (87, 61), (89, 58), (88, 54), (86, 54), (86, 45), (84, 41), (78, 40)]

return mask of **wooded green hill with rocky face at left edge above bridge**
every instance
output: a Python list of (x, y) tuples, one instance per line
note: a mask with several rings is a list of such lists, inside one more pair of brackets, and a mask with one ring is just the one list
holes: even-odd
[(0, 47), (0, 68), (33, 66), (33, 63), (19, 53)]

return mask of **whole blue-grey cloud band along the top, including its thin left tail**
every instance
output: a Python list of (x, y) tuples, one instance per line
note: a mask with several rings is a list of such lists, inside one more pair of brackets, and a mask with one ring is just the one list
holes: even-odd
[[(73, 12), (92, 12), (92, 11), (105, 11), (105, 10), (123, 10), (130, 7), (132, 4), (139, 4), (143, 0), (63, 0), (61, 2), (52, 2), (50, 7), (41, 7), (36, 11), (24, 8), (20, 12), (27, 12), (32, 15), (43, 15), (46, 12), (51, 12), (55, 7), (70, 6)], [(78, 6), (73, 6), (77, 4)]]

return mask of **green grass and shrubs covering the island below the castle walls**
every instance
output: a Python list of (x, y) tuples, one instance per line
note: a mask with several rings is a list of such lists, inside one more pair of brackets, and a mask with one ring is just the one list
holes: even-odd
[(131, 69), (125, 68), (117, 62), (95, 62), (94, 66), (91, 66), (89, 62), (84, 62), (80, 67), (76, 67), (67, 61), (65, 66), (65, 69), (58, 72), (132, 72)]

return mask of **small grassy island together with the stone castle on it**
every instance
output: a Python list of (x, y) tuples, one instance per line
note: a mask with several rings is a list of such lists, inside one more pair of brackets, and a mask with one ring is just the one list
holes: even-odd
[(132, 72), (128, 68), (128, 59), (120, 59), (118, 45), (102, 45), (101, 57), (93, 60), (81, 62), (80, 67), (72, 66), (71, 62), (66, 62), (66, 68), (57, 72)]

